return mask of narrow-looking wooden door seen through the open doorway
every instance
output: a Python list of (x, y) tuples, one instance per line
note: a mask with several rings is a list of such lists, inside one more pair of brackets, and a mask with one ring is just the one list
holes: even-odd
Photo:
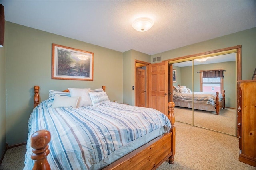
[(146, 102), (146, 70), (136, 68), (136, 106), (145, 107)]

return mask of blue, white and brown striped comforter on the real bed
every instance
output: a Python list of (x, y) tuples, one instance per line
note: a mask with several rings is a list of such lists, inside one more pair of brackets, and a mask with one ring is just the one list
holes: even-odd
[(90, 169), (114, 150), (160, 127), (170, 129), (169, 119), (151, 108), (108, 102), (98, 106), (49, 108), (41, 102), (28, 121), (25, 168), (32, 169), (30, 136), (40, 129), (51, 133), (52, 169)]

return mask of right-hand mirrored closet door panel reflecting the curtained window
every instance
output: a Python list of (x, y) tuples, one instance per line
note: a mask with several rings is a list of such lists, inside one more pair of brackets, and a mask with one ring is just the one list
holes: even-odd
[(219, 92), (219, 106), (211, 105), (210, 99), (200, 107), (194, 102), (194, 125), (236, 135), (236, 53), (204, 59), (194, 60), (194, 99), (199, 92), (212, 94), (216, 100)]

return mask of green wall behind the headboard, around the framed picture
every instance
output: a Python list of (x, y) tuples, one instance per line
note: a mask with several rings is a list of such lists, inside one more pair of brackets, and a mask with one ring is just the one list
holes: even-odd
[[(121, 52), (10, 22), (6, 22), (6, 30), (6, 142), (9, 145), (26, 142), (28, 138), (35, 85), (40, 86), (41, 100), (48, 98), (48, 90), (93, 89), (105, 85), (110, 100), (123, 101)], [(94, 80), (52, 80), (52, 43), (93, 52)]]

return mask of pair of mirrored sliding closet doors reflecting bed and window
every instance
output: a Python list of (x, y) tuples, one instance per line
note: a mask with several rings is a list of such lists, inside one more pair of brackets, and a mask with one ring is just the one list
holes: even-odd
[[(176, 105), (175, 119), (236, 135), (236, 53), (204, 59), (172, 64), (176, 73), (176, 82), (173, 82), (173, 86), (180, 87), (180, 91), (183, 90), (180, 94), (173, 92)], [(219, 70), (223, 70), (223, 77), (222, 74), (219, 75)], [(217, 76), (214, 74), (215, 77), (207, 77), (208, 73), (212, 75), (214, 71), (218, 73)], [(206, 77), (203, 78), (204, 76)], [(223, 90), (225, 94), (222, 96)], [(215, 108), (216, 92), (220, 93), (218, 100), (221, 108), (218, 111)], [(212, 100), (208, 99), (210, 96)], [(182, 102), (180, 98), (184, 98), (185, 101)]]

